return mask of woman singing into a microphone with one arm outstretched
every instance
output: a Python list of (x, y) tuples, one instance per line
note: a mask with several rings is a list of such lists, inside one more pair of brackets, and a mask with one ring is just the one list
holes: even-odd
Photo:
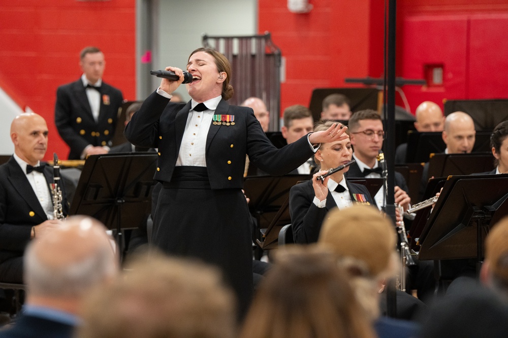
[[(208, 48), (192, 52), (186, 85), (192, 98), (171, 102), (180, 79), (162, 79), (125, 128), (137, 146), (158, 148), (154, 178), (163, 184), (154, 211), (151, 244), (169, 254), (199, 257), (220, 267), (244, 314), (252, 297), (251, 222), (242, 193), (245, 155), (271, 175), (304, 163), (320, 142), (345, 135), (334, 124), (277, 149), (265, 136), (251, 108), (229, 105), (233, 96), (228, 59)], [(152, 211), (153, 213), (153, 211)]]

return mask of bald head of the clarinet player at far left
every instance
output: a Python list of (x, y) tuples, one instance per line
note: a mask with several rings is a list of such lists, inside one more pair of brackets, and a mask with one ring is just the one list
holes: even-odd
[(35, 112), (25, 112), (11, 123), (11, 140), (14, 154), (29, 165), (35, 166), (44, 158), (48, 147), (48, 126)]

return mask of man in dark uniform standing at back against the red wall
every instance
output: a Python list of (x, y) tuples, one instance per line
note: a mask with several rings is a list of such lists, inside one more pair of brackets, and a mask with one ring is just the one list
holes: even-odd
[(109, 152), (123, 100), (120, 90), (102, 81), (106, 61), (99, 48), (84, 48), (79, 64), (81, 79), (56, 91), (55, 124), (71, 147), (69, 160)]

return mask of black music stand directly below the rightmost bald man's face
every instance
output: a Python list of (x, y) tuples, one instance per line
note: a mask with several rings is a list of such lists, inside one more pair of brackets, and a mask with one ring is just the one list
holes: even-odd
[(494, 169), (492, 153), (435, 154), (429, 161), (428, 177), (469, 175)]

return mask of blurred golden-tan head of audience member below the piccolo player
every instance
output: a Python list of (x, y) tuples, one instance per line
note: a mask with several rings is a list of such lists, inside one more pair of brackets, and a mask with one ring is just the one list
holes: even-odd
[(357, 299), (370, 319), (377, 319), (379, 290), (400, 264), (391, 221), (369, 206), (333, 209), (323, 222), (317, 244), (336, 254), (351, 276)]

